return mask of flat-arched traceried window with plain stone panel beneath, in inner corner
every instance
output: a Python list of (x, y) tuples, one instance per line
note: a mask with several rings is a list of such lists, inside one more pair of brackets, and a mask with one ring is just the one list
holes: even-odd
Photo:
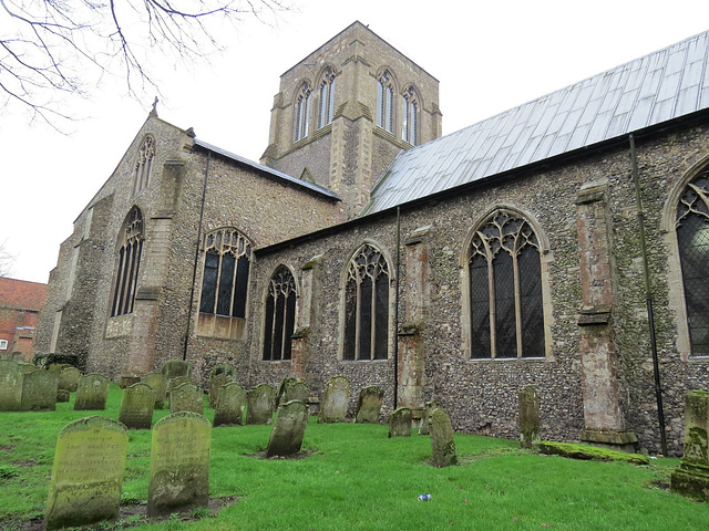
[(251, 244), (236, 229), (209, 232), (205, 240), (201, 313), (246, 317)]

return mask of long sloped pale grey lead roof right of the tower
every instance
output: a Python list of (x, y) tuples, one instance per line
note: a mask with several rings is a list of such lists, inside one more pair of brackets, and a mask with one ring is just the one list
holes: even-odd
[(709, 31), (402, 152), (362, 215), (709, 107)]

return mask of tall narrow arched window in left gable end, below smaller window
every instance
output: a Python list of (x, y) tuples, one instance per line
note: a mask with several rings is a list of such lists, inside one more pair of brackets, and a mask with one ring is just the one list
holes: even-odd
[(143, 240), (143, 214), (140, 208), (133, 207), (126, 216), (121, 231), (113, 304), (111, 305), (112, 317), (133, 312)]

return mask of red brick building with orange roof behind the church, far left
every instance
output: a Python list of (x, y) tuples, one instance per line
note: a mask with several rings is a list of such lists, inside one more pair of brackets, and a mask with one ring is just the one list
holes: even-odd
[(0, 358), (31, 361), (47, 284), (0, 277)]

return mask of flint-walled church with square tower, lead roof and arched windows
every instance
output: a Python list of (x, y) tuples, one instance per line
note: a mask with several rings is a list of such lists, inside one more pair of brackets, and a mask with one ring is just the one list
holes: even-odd
[(441, 121), (438, 80), (360, 22), (281, 75), (259, 163), (154, 108), (61, 246), (35, 351), (345, 375), (500, 437), (534, 385), (544, 439), (681, 452), (709, 388), (709, 32)]

